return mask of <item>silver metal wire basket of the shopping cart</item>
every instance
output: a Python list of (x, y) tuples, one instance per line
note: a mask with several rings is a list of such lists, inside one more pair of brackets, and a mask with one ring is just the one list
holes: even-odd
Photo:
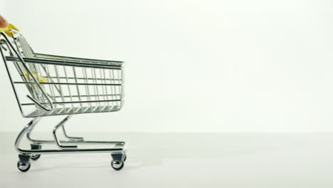
[[(122, 108), (122, 61), (33, 53), (21, 35), (12, 42), (5, 35), (4, 38), (1, 55), (23, 117), (107, 113)], [(9, 49), (9, 56), (4, 55), (4, 46)], [(9, 64), (14, 64), (20, 80), (11, 75)], [(27, 97), (33, 103), (20, 102), (16, 85), (26, 85), (31, 94)], [(24, 113), (26, 106), (36, 108)]]

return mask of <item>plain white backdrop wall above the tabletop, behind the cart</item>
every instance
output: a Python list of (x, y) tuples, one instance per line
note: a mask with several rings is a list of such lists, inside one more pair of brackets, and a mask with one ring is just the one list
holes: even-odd
[[(69, 129), (309, 132), (333, 127), (332, 1), (4, 1), (39, 53), (126, 61), (125, 107)], [(1, 130), (19, 114), (0, 63)], [(45, 118), (51, 130), (60, 117)]]

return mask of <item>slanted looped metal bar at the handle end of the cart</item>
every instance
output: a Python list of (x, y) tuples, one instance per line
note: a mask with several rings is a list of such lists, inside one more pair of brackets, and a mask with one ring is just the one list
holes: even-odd
[[(11, 24), (9, 24), (11, 25)], [(12, 25), (11, 25), (12, 26)], [(10, 28), (10, 31), (16, 32), (16, 30)], [(29, 75), (31, 75), (31, 78), (33, 79), (33, 81), (36, 83), (36, 85), (38, 86), (38, 88), (41, 90), (41, 93), (44, 95), (44, 97), (46, 98), (46, 100), (48, 100), (48, 105), (50, 105), (50, 108), (45, 108), (43, 105), (41, 105), (41, 103), (38, 103), (37, 100), (35, 100), (34, 98), (31, 98), (31, 96), (27, 95), (27, 97), (29, 99), (31, 99), (33, 101), (33, 103), (36, 103), (36, 105), (38, 105), (39, 107), (41, 107), (43, 110), (46, 111), (51, 111), (53, 110), (53, 103), (51, 102), (50, 98), (48, 98), (48, 95), (46, 95), (45, 91), (43, 90), (43, 88), (41, 87), (41, 84), (39, 83), (38, 80), (36, 80), (36, 78), (33, 76), (33, 73), (31, 73), (30, 69), (28, 68), (28, 66), (26, 66), (26, 62), (24, 62), (23, 58), (21, 57), (21, 55), (15, 50), (15, 48), (13, 47), (13, 45), (11, 44), (11, 42), (9, 41), (8, 37), (6, 36), (6, 31), (1, 31), (1, 35), (4, 36), (4, 38), (6, 39), (7, 43), (9, 43), (9, 46), (13, 49), (13, 51), (16, 53), (16, 56), (18, 56), (18, 58), (20, 59), (22, 65), (24, 66), (24, 68), (26, 68), (26, 71), (28, 72)], [(11, 33), (11, 37), (12, 37), (12, 33)]]

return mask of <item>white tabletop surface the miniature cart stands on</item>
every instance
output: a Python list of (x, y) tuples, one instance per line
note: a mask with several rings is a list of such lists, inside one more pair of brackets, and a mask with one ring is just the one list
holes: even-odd
[(332, 132), (78, 135), (128, 141), (125, 167), (113, 170), (105, 153), (63, 154), (19, 172), (16, 133), (1, 132), (0, 187), (333, 187)]

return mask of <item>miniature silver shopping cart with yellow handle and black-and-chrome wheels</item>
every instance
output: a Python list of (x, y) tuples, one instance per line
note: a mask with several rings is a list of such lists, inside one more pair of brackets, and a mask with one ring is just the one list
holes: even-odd
[[(125, 142), (85, 141), (83, 137), (68, 136), (64, 127), (71, 115), (110, 113), (122, 108), (124, 62), (34, 53), (12, 25), (1, 32), (0, 51), (21, 114), (33, 118), (15, 142), (19, 170), (28, 171), (30, 160), (38, 160), (44, 154), (78, 152), (108, 152), (112, 156), (113, 169), (124, 167)], [(54, 140), (33, 139), (31, 132), (41, 117), (54, 115), (65, 115), (53, 128)], [(65, 140), (59, 140), (56, 134), (59, 128), (63, 130)], [(31, 150), (19, 147), (24, 135), (31, 142)], [(43, 150), (45, 144), (55, 145), (56, 149)], [(78, 145), (83, 144), (110, 147), (80, 149)]]

